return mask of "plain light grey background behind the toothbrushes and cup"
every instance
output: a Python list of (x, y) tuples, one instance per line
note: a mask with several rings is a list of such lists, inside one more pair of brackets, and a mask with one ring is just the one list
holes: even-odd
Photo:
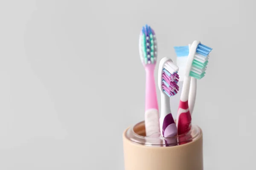
[(123, 170), (122, 132), (144, 118), (146, 23), (157, 66), (175, 45), (214, 48), (192, 116), (205, 170), (256, 169), (254, 2), (0, 1), (0, 169)]

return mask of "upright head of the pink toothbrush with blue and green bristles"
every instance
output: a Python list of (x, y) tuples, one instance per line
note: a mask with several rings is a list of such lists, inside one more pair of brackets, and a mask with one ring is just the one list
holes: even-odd
[(140, 59), (143, 65), (156, 64), (157, 62), (157, 39), (154, 30), (143, 26), (139, 38)]

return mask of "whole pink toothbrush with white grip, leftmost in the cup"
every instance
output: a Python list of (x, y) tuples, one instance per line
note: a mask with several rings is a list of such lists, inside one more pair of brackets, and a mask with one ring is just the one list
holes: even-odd
[(146, 72), (145, 90), (145, 130), (146, 136), (159, 135), (159, 113), (154, 68), (157, 62), (157, 42), (154, 30), (145, 25), (139, 38), (140, 59)]

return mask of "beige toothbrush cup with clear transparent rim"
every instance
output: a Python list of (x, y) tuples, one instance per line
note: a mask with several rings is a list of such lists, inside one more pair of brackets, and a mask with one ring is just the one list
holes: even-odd
[(182, 136), (145, 136), (140, 122), (123, 133), (125, 170), (203, 170), (203, 134), (192, 125)]

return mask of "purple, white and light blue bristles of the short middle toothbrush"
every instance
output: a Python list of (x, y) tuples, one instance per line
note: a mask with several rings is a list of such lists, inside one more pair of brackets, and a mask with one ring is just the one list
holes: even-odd
[(177, 74), (178, 68), (172, 62), (166, 62), (162, 71), (162, 90), (171, 97), (179, 91), (179, 75)]

